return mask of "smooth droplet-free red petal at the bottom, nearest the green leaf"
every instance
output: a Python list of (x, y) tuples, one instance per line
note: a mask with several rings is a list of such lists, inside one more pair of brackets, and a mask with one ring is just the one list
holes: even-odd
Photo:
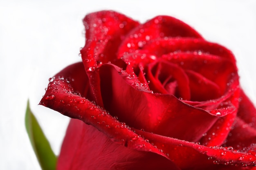
[(180, 170), (165, 157), (117, 144), (77, 119), (70, 121), (57, 165), (57, 170)]

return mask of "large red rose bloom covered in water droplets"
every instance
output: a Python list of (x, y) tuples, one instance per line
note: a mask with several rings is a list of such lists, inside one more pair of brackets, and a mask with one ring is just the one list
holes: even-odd
[(40, 102), (74, 118), (57, 169), (256, 166), (256, 109), (231, 51), (169, 16), (139, 24), (100, 11), (83, 22), (83, 62), (50, 79)]

